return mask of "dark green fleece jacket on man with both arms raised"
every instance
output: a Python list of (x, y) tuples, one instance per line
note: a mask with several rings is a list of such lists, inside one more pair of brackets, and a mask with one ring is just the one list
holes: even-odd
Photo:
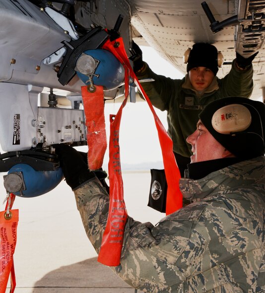
[(167, 111), (168, 134), (173, 141), (173, 151), (184, 156), (192, 155), (191, 145), (186, 138), (196, 129), (199, 113), (212, 101), (231, 97), (249, 98), (253, 91), (253, 67), (240, 71), (233, 61), (230, 72), (212, 83), (203, 93), (192, 88), (188, 75), (183, 79), (172, 79), (154, 73), (149, 66), (138, 79), (152, 78), (152, 82), (142, 83), (152, 105)]

